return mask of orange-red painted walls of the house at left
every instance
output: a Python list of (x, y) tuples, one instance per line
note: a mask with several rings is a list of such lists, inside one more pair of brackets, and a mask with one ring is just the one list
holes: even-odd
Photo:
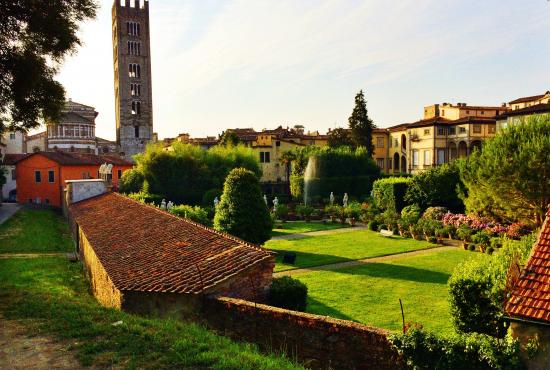
[[(132, 166), (113, 166), (114, 189), (118, 188), (118, 170), (124, 173), (131, 168)], [(41, 172), (40, 183), (35, 180), (35, 171)], [(49, 182), (48, 171), (54, 171), (53, 182)], [(66, 180), (97, 179), (98, 171), (98, 165), (62, 166), (40, 154), (34, 154), (16, 164), (17, 201), (23, 204), (29, 203), (30, 199), (34, 203), (36, 198), (40, 198), (42, 204), (61, 207)]]

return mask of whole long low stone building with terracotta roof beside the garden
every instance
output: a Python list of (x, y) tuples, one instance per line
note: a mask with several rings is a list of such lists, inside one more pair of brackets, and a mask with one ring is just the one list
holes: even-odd
[(107, 307), (198, 315), (203, 296), (262, 301), (274, 254), (120, 194), (99, 180), (66, 190), (77, 251)]

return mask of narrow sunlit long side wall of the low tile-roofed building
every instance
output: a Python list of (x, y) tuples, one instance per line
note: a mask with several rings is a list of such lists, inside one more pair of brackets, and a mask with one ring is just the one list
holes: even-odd
[(96, 299), (105, 307), (121, 308), (122, 294), (115, 287), (90, 246), (82, 229), (78, 230), (79, 253)]

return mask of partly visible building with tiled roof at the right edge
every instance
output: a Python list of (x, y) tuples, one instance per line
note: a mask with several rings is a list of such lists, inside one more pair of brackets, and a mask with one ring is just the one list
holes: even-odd
[(523, 344), (530, 340), (540, 343), (534, 358), (528, 359), (529, 369), (548, 369), (550, 364), (550, 210), (537, 244), (513, 284), (506, 303), (506, 314), (512, 335)]

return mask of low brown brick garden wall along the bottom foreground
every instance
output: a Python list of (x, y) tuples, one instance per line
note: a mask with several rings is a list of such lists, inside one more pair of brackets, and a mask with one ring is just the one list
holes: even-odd
[(310, 368), (403, 368), (387, 331), (351, 321), (227, 297), (206, 299), (202, 317), (220, 334), (285, 352)]

